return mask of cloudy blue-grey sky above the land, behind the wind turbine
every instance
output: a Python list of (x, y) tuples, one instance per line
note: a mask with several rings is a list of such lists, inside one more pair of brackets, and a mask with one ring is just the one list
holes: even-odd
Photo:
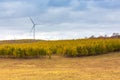
[(120, 33), (119, 0), (0, 0), (0, 40), (76, 39)]

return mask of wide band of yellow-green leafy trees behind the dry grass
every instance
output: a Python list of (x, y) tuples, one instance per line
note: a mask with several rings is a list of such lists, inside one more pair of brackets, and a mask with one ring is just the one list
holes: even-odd
[(2, 44), (0, 57), (43, 57), (60, 55), (80, 57), (120, 51), (120, 39), (81, 39), (63, 41), (39, 41), (35, 43)]

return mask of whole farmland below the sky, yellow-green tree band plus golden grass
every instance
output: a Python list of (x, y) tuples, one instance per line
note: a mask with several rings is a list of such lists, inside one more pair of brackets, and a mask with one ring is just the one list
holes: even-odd
[(119, 66), (120, 39), (0, 44), (0, 80), (120, 80)]

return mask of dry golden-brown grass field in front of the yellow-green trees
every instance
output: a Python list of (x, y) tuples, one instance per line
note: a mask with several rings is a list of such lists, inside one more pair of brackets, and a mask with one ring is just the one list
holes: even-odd
[(80, 58), (1, 58), (0, 80), (120, 80), (120, 52)]

